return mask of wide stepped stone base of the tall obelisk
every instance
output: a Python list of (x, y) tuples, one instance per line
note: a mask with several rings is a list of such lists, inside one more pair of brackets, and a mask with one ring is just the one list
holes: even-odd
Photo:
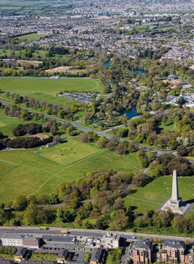
[(168, 211), (170, 209), (173, 213), (177, 213), (179, 215), (184, 215), (184, 213), (188, 210), (190, 204), (186, 204), (182, 199), (177, 201), (173, 199), (166, 199), (164, 204), (158, 208), (159, 211)]

